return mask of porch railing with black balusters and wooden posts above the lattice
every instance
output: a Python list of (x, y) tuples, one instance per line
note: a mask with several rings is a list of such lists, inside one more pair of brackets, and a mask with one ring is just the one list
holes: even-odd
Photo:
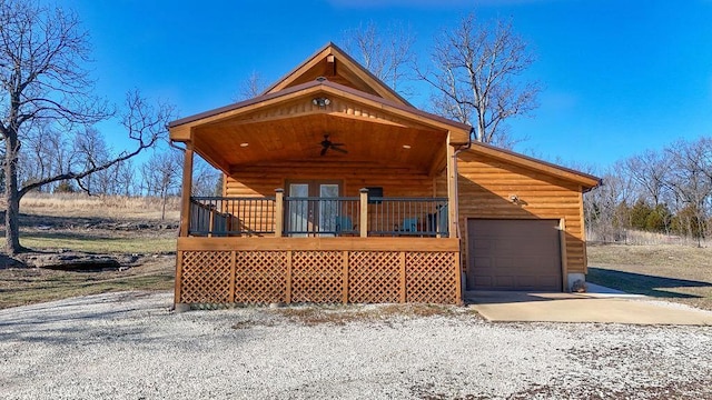
[(188, 236), (447, 238), (447, 198), (192, 197)]

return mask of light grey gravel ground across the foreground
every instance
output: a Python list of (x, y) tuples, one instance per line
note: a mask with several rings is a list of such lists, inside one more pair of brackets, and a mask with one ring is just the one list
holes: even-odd
[(468, 308), (0, 310), (3, 399), (712, 399), (712, 327), (491, 323)]

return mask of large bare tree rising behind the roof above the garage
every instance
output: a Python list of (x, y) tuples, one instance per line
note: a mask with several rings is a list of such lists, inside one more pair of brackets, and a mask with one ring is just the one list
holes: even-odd
[(538, 82), (518, 79), (534, 61), (511, 21), (479, 24), (474, 13), (435, 40), (432, 69), (416, 74), (435, 89), (435, 112), (475, 128), (475, 140), (511, 147), (503, 122), (537, 107)]

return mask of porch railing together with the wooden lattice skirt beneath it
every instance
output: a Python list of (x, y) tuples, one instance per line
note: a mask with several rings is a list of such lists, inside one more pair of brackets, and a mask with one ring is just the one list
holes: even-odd
[(447, 198), (190, 198), (176, 302), (428, 302), (462, 299)]

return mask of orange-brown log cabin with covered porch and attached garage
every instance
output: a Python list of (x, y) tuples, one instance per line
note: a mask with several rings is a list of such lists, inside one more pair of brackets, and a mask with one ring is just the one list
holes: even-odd
[[(414, 108), (329, 43), (264, 94), (169, 124), (186, 147), (175, 302), (461, 303), (585, 279), (599, 179)], [(192, 197), (194, 154), (224, 173)]]

